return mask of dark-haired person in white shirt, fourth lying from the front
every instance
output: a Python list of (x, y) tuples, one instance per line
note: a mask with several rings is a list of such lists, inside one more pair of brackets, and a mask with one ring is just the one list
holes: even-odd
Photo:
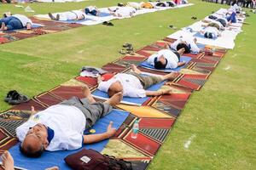
[(200, 53), (200, 48), (196, 45), (197, 39), (195, 37), (180, 37), (175, 42), (171, 43), (170, 48), (174, 50), (179, 50), (180, 48), (185, 48), (184, 54), (198, 54)]

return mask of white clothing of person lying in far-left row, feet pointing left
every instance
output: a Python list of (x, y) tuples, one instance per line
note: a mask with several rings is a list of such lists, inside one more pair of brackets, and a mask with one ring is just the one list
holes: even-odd
[(64, 13), (60, 13), (60, 20), (78, 20), (78, 19), (85, 19), (86, 14), (84, 14), (81, 10), (73, 10), (73, 11), (67, 11)]

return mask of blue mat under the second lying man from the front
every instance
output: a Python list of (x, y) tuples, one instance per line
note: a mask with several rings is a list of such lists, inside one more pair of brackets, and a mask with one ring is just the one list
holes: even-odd
[[(151, 91), (156, 91), (160, 89), (160, 87), (164, 84), (165, 82), (159, 82), (157, 84), (154, 84), (153, 86), (149, 87), (147, 90)], [(102, 92), (98, 89), (92, 93), (93, 96), (99, 99), (108, 99), (108, 94), (105, 92)], [(148, 97), (145, 98), (130, 98), (130, 97), (124, 97), (121, 103), (123, 104), (128, 104), (128, 105), (143, 105), (145, 101), (147, 101)]]

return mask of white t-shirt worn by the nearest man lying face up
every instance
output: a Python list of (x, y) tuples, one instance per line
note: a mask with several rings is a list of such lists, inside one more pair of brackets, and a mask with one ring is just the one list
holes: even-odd
[(86, 119), (79, 108), (72, 105), (52, 105), (38, 112), (16, 128), (20, 142), (25, 139), (29, 127), (38, 123), (50, 127), (55, 132), (46, 150), (76, 150), (82, 146)]

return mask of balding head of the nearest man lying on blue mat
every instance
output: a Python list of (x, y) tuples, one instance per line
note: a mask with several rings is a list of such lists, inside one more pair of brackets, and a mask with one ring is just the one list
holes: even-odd
[(39, 157), (49, 144), (47, 127), (38, 123), (31, 127), (20, 144), (20, 152), (28, 157)]

